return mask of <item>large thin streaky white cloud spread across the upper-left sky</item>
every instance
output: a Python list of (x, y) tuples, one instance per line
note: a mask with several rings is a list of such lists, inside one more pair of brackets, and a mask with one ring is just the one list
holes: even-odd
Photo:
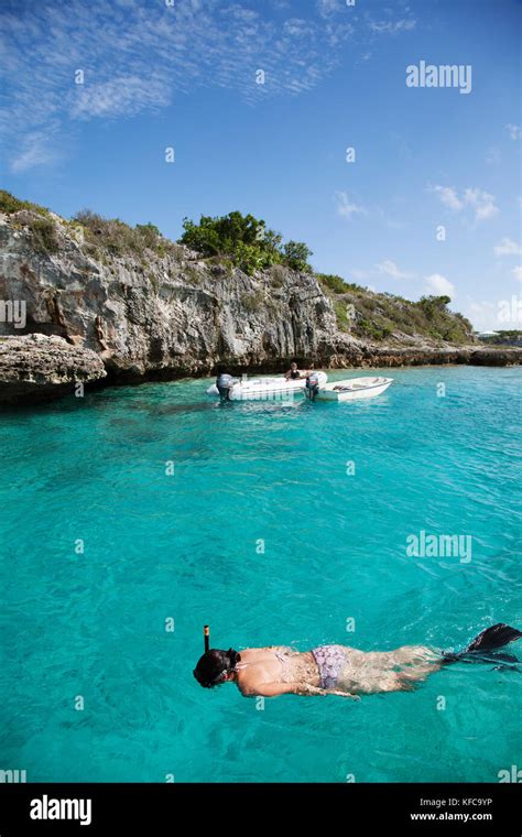
[[(157, 112), (197, 88), (228, 88), (249, 105), (314, 89), (339, 65), (354, 15), (341, 0), (323, 1), (326, 17), (315, 9), (292, 15), (282, 11), (287, 3), (274, 4), (287, 13), (286, 23), (263, 3), (246, 8), (233, 0), (172, 7), (68, 0), (66, 14), (59, 3), (21, 3), (15, 10), (0, 3), (2, 91), (9, 102), (0, 115), (4, 159), (15, 171), (42, 165), (63, 154), (80, 121)], [(334, 25), (328, 15), (337, 10), (340, 22)], [(264, 85), (255, 84), (258, 68), (265, 72)], [(75, 84), (78, 69), (83, 85)], [(54, 141), (53, 126), (61, 142)], [(20, 149), (20, 137), (34, 135), (37, 143)]]

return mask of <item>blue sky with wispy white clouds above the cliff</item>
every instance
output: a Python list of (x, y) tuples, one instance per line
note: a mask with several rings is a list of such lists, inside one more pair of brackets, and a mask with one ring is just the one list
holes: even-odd
[[(521, 18), (520, 0), (3, 0), (2, 185), (172, 238), (250, 211), (317, 270), (513, 328)], [(407, 87), (421, 61), (470, 65), (470, 93)]]

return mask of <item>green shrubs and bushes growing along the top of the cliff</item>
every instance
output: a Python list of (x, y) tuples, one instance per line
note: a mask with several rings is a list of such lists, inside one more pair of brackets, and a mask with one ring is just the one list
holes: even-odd
[[(17, 224), (30, 229), (39, 252), (59, 249), (56, 216), (45, 207), (0, 191), (0, 211), (21, 213)], [(249, 275), (267, 271), (274, 291), (284, 286), (289, 269), (314, 274), (331, 300), (338, 329), (361, 340), (403, 343), (407, 337), (424, 337), (435, 343), (463, 345), (476, 339), (471, 324), (463, 315), (448, 311), (448, 296), (425, 296), (411, 302), (394, 294), (376, 293), (339, 275), (314, 273), (308, 264), (312, 251), (305, 243), (287, 241), (283, 244), (279, 232), (252, 215), (233, 211), (214, 218), (202, 216), (198, 224), (185, 218), (178, 243), (163, 238), (153, 224), (131, 227), (119, 218), (104, 218), (90, 209), (80, 210), (63, 224), (72, 232), (83, 230), (86, 250), (102, 264), (112, 258), (131, 257), (139, 259), (144, 270), (154, 259), (186, 258), (186, 250), (181, 247), (185, 244), (200, 253), (209, 268), (225, 269), (229, 278), (233, 276), (235, 268)], [(188, 265), (186, 272), (189, 271)], [(243, 306), (254, 312), (265, 301), (260, 290), (252, 298), (243, 300)]]

